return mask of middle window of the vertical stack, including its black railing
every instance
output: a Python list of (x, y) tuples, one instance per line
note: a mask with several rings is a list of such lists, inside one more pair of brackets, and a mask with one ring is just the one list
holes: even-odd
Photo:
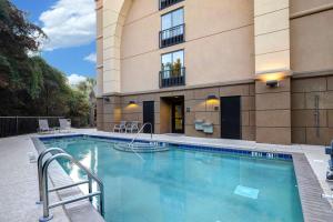
[(184, 10), (171, 11), (161, 17), (160, 48), (184, 42)]

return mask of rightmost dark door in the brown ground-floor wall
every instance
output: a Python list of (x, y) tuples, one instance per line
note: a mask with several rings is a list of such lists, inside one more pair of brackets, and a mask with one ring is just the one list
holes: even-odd
[(221, 98), (221, 138), (241, 139), (241, 97)]

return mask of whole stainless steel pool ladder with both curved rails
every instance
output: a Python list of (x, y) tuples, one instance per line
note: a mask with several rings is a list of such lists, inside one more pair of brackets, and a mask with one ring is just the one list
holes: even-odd
[[(43, 162), (43, 158), (47, 154), (50, 154), (50, 157), (47, 159), (47, 161)], [(80, 181), (77, 183), (68, 184), (68, 185), (62, 185), (53, 189), (48, 188), (48, 169), (51, 162), (53, 162), (57, 159), (65, 159), (69, 160), (70, 162), (74, 163), (78, 165), (81, 170), (83, 170), (87, 175), (88, 180)], [(89, 199), (90, 202), (92, 202), (92, 198), (99, 195), (99, 212), (102, 216), (104, 216), (104, 188), (102, 181), (94, 175), (89, 169), (87, 169), (84, 165), (82, 165), (79, 161), (77, 161), (72, 155), (68, 154), (64, 150), (60, 148), (50, 148), (40, 153), (38, 157), (38, 180), (39, 180), (39, 202), (43, 204), (43, 216), (39, 219), (40, 222), (44, 221), (50, 221), (53, 216), (50, 214), (50, 209), (57, 208), (60, 205), (65, 205), (68, 203), (73, 203), (77, 201), (82, 201), (85, 199)], [(99, 190), (95, 192), (92, 192), (92, 181), (95, 181)], [(81, 196), (75, 196), (75, 198), (69, 198), (65, 200), (58, 201), (56, 203), (50, 204), (49, 202), (49, 193), (54, 192), (54, 191), (60, 191), (60, 190), (65, 190), (69, 188), (78, 186), (81, 184), (87, 184), (88, 183), (88, 194), (83, 194)]]

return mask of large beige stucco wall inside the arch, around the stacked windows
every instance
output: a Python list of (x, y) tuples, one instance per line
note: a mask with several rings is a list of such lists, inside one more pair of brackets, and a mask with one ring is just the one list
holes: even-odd
[[(120, 47), (121, 92), (159, 89), (161, 54), (179, 49), (184, 49), (186, 85), (253, 79), (253, 0), (191, 0), (163, 11), (157, 2), (135, 0), (128, 13)], [(161, 14), (179, 7), (185, 9), (186, 42), (160, 50)]]

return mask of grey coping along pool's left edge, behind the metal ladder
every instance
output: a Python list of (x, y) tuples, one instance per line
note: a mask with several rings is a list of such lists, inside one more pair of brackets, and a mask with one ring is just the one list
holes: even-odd
[[(44, 143), (40, 140), (42, 137), (31, 137), (31, 141), (38, 152), (40, 154), (43, 150), (46, 150)], [(57, 137), (53, 137), (57, 138)], [(47, 154), (44, 159), (51, 157)], [(54, 161), (49, 167), (49, 178), (52, 186), (61, 186), (65, 184), (74, 183), (74, 181), (70, 178), (68, 173), (63, 170), (63, 168)], [(56, 192), (59, 200), (67, 199), (72, 195), (82, 195), (83, 192), (78, 188), (71, 188), (63, 191)], [(88, 201), (78, 201), (71, 204), (62, 205), (62, 209), (71, 222), (105, 222), (101, 214), (95, 210), (95, 208)], [(51, 211), (50, 211), (51, 213)]]

